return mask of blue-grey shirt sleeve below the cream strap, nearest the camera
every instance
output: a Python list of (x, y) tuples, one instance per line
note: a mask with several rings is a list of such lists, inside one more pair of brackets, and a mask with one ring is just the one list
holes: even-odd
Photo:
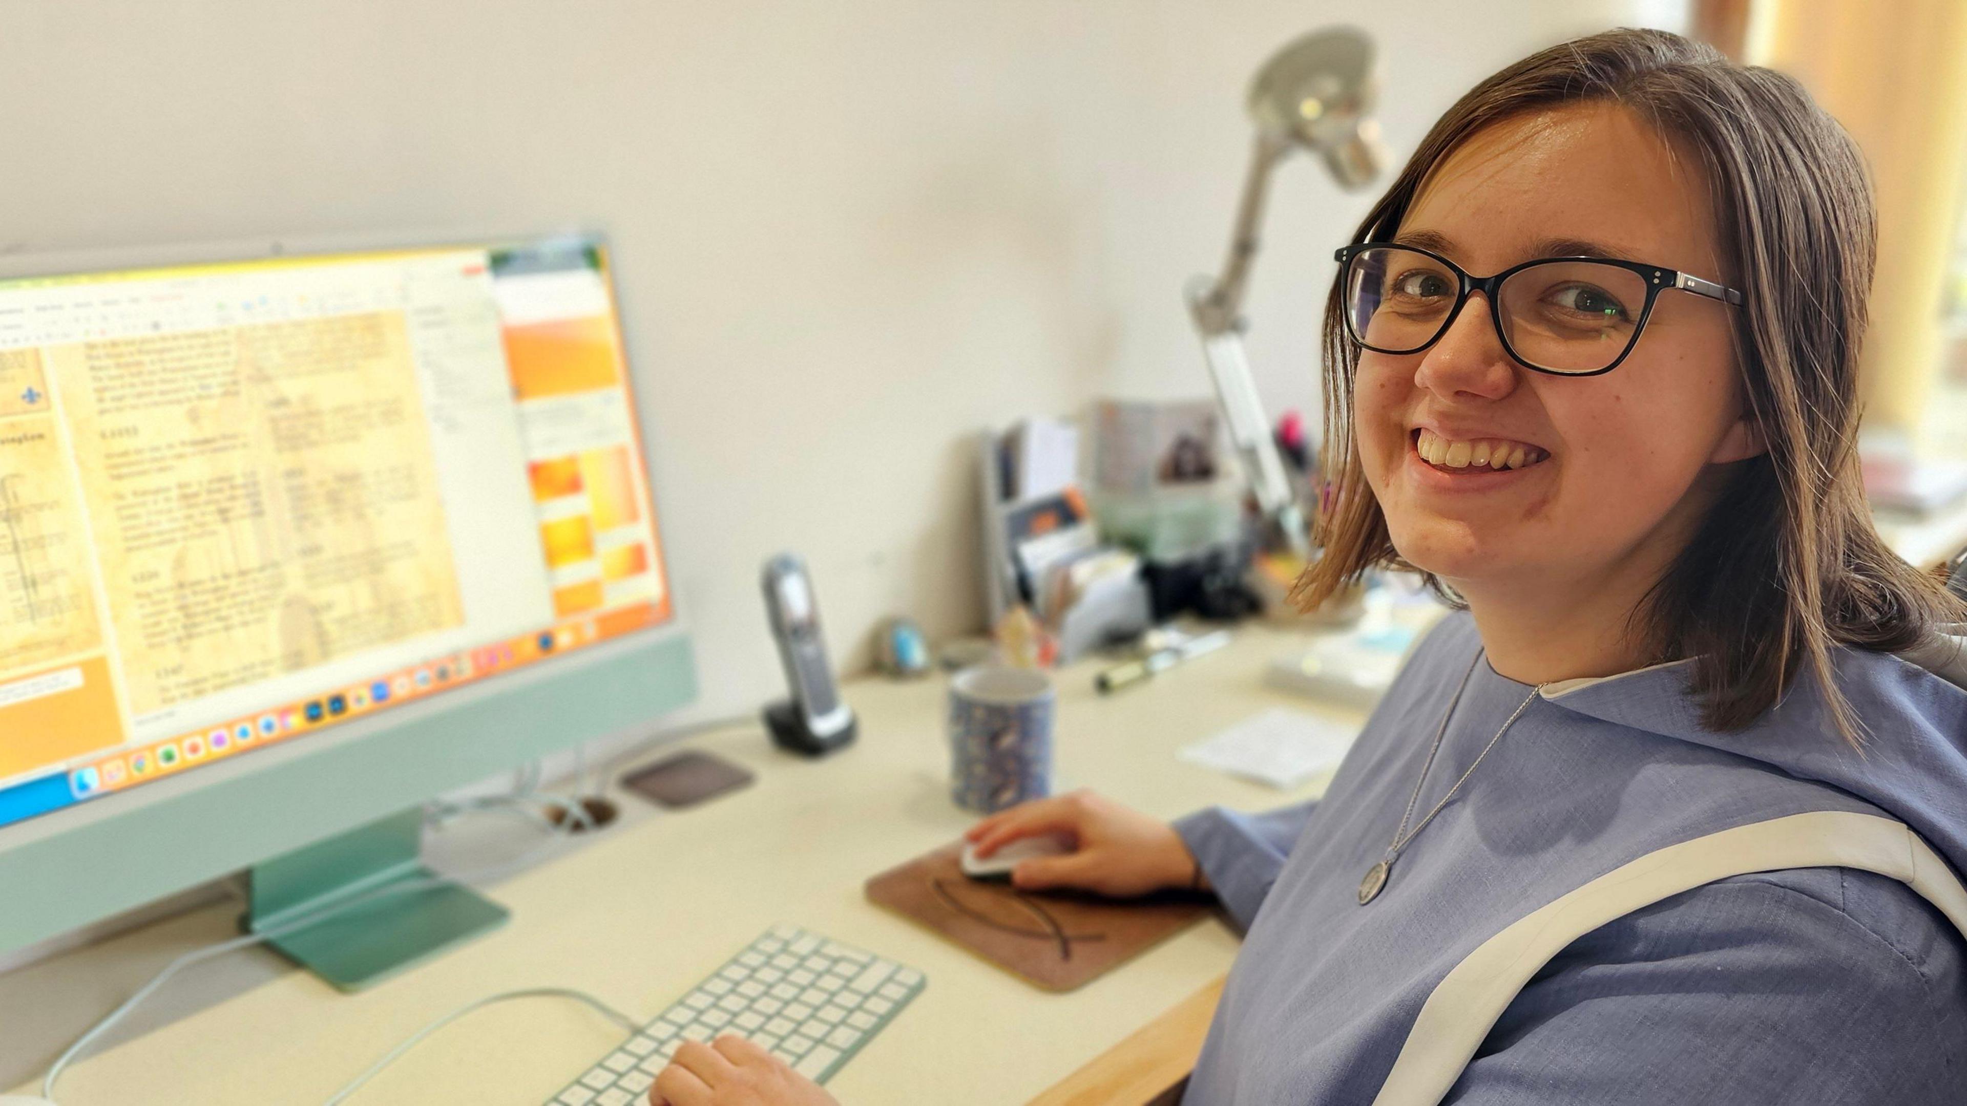
[[(1963, 943), (1869, 872), (1737, 876), (1601, 927), (1517, 996), (1456, 1106), (1943, 1106), (1967, 1080)], [(1847, 913), (1845, 895), (1867, 895)], [(1898, 895), (1878, 905), (1878, 895)], [(1875, 931), (1890, 917), (1892, 925)]]

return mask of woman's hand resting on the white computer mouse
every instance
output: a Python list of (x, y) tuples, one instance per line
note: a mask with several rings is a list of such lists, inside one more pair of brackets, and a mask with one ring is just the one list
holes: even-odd
[(1064, 856), (1019, 862), (1011, 870), (1011, 886), (1031, 891), (1076, 888), (1127, 897), (1188, 888), (1198, 876), (1196, 858), (1168, 823), (1092, 791), (1033, 799), (997, 811), (970, 827), (964, 838), (976, 844), (978, 856), (989, 856), (1003, 844), (1041, 832), (1070, 836), (1078, 848)]

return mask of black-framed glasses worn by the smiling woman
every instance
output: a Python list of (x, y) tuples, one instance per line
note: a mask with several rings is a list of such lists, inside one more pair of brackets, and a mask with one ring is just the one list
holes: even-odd
[(1418, 246), (1359, 242), (1336, 254), (1345, 289), (1345, 333), (1383, 354), (1412, 354), (1448, 333), (1469, 293), (1489, 301), (1503, 350), (1558, 376), (1619, 368), (1662, 289), (1741, 305), (1741, 293), (1662, 266), (1611, 258), (1536, 258), (1477, 277)]

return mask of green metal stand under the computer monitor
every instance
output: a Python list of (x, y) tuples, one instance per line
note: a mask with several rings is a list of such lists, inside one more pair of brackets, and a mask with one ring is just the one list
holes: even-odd
[(356, 992), (506, 923), (506, 907), (456, 884), (386, 890), (433, 876), (417, 860), (421, 844), (423, 811), (413, 807), (266, 860), (250, 874), (242, 927), (266, 933), (336, 901), (370, 895), (268, 939), (289, 960), (338, 990)]

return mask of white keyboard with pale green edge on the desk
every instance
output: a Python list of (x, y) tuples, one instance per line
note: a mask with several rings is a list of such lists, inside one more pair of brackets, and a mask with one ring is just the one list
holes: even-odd
[(781, 925), (602, 1057), (547, 1106), (643, 1102), (655, 1073), (669, 1067), (679, 1045), (724, 1033), (747, 1037), (793, 1071), (826, 1082), (926, 984), (915, 968)]

